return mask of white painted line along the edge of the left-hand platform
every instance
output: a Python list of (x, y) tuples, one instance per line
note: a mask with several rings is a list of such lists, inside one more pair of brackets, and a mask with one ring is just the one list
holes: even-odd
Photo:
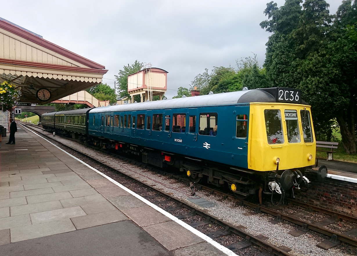
[[(22, 124), (20, 124), (21, 126), (23, 126)], [(194, 229), (193, 227), (191, 227), (190, 225), (186, 224), (185, 222), (183, 222), (182, 220), (177, 219), (177, 217), (175, 217), (174, 215), (168, 213), (167, 211), (161, 209), (159, 206), (152, 204), (150, 201), (146, 200), (145, 198), (143, 198), (142, 196), (136, 194), (135, 192), (131, 191), (130, 189), (126, 188), (125, 186), (121, 185), (119, 182), (113, 180), (112, 178), (108, 177), (107, 175), (101, 173), (100, 171), (98, 171), (97, 169), (91, 167), (89, 164), (83, 162), (82, 160), (76, 158), (74, 155), (71, 155), (70, 153), (66, 152), (65, 150), (61, 149), (60, 147), (58, 147), (57, 145), (53, 144), (52, 142), (50, 142), (49, 140), (45, 139), (44, 137), (40, 136), (39, 134), (33, 132), (32, 130), (28, 129), (27, 127), (23, 126), (24, 128), (26, 128), (27, 130), (29, 130), (30, 132), (34, 133), (35, 135), (37, 135), (38, 137), (46, 140), (48, 143), (54, 145), (56, 148), (62, 150), (63, 152), (65, 152), (67, 155), (69, 155), (70, 157), (76, 159), (78, 162), (84, 164), (86, 167), (94, 170), (96, 173), (102, 175), (104, 178), (106, 178), (107, 180), (111, 181), (112, 183), (114, 183), (115, 185), (119, 186), (121, 189), (124, 189), (125, 191), (127, 191), (128, 193), (130, 193), (131, 195), (135, 196), (137, 199), (141, 200), (142, 202), (144, 202), (145, 204), (151, 206), (152, 208), (154, 208), (155, 210), (159, 211), (160, 213), (164, 214), (166, 217), (168, 217), (169, 219), (175, 221), (178, 225), (184, 227), (185, 229), (191, 231), (193, 234), (197, 235), (198, 237), (202, 238), (203, 240), (205, 240), (206, 242), (208, 242), (209, 244), (213, 245), (214, 247), (216, 247), (218, 250), (224, 252), (226, 255), (229, 256), (237, 256), (237, 254), (235, 254), (233, 251), (229, 250), (228, 248), (218, 244), (216, 241), (214, 241), (212, 238), (206, 236), (205, 234), (203, 234), (202, 232)]]

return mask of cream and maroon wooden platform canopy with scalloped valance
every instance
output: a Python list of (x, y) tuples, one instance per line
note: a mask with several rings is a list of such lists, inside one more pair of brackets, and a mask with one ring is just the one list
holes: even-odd
[[(18, 86), (20, 102), (55, 101), (100, 83), (106, 72), (104, 66), (0, 17), (0, 83)], [(40, 89), (49, 91), (50, 98), (38, 98)]]

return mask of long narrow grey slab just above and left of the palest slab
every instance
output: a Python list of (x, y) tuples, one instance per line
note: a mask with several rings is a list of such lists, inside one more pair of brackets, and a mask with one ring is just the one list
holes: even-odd
[(61, 202), (57, 200), (57, 201), (49, 201), (43, 203), (11, 206), (10, 212), (11, 212), (11, 216), (15, 216), (15, 215), (22, 215), (22, 214), (30, 214), (30, 213), (40, 213), (42, 211), (50, 211), (50, 210), (56, 210), (61, 208), (63, 208), (63, 206)]

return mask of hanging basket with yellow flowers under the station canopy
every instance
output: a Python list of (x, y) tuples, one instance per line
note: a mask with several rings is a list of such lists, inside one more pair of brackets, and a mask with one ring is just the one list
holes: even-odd
[(11, 111), (20, 99), (21, 92), (15, 85), (4, 81), (0, 83), (0, 109), (1, 111)]

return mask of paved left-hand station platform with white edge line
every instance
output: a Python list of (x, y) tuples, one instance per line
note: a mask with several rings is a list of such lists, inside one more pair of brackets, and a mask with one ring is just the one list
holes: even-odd
[(17, 127), (0, 148), (0, 255), (235, 255)]

